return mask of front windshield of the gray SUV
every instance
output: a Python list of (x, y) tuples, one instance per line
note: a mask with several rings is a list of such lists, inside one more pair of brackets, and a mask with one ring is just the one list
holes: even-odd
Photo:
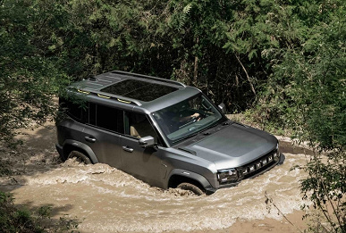
[(190, 137), (223, 118), (201, 94), (152, 113), (170, 143)]

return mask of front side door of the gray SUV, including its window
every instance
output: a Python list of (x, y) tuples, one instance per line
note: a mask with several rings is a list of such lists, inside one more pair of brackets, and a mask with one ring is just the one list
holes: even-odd
[(122, 171), (126, 171), (138, 179), (142, 179), (152, 186), (160, 186), (162, 152), (155, 147), (143, 148), (139, 146), (139, 138), (152, 136), (156, 138), (156, 131), (145, 114), (135, 112), (124, 113), (125, 133), (121, 140)]

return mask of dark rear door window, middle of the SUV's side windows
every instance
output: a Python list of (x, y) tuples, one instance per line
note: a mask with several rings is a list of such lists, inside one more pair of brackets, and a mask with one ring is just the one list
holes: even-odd
[(89, 124), (123, 134), (122, 111), (101, 104), (89, 103)]

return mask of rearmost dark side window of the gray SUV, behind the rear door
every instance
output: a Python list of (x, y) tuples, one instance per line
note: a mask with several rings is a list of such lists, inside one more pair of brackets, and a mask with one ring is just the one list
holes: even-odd
[(81, 100), (59, 99), (60, 110), (65, 112), (75, 121), (86, 122), (88, 120), (88, 104)]

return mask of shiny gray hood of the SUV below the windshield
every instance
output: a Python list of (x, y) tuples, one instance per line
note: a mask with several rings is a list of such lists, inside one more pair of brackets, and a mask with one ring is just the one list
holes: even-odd
[(276, 137), (265, 131), (233, 123), (184, 148), (214, 162), (216, 169), (222, 170), (255, 161), (276, 145)]

